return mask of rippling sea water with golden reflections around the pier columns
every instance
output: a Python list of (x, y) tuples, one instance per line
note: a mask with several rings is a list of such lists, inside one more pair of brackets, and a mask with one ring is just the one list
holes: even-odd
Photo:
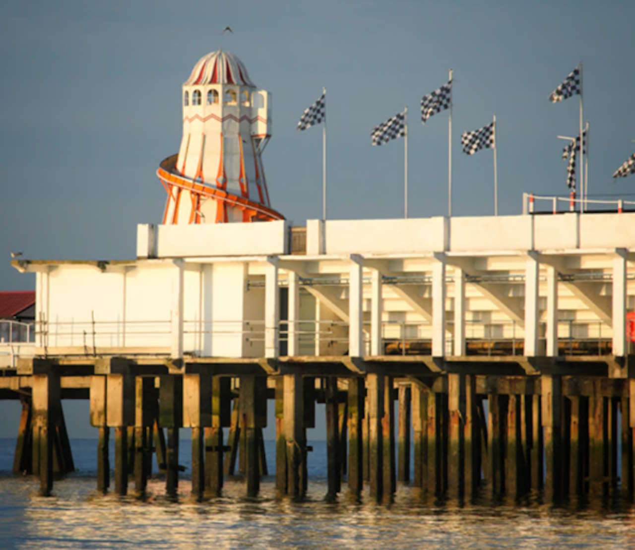
[[(111, 442), (112, 443), (112, 442)], [(326, 495), (326, 443), (312, 441), (304, 502), (276, 499), (274, 475), (265, 476), (257, 499), (244, 482), (225, 480), (223, 496), (190, 497), (190, 441), (180, 444), (178, 499), (164, 496), (155, 476), (148, 497), (97, 493), (97, 441), (72, 439), (76, 472), (56, 480), (53, 496), (40, 497), (39, 481), (11, 473), (15, 439), (0, 439), (0, 548), (91, 547), (315, 547), (324, 548), (599, 548), (635, 547), (635, 510), (622, 502), (553, 507), (528, 497), (519, 504), (483, 497), (476, 504), (422, 502), (398, 484), (394, 504), (350, 502), (345, 483), (335, 503)], [(265, 443), (274, 474), (275, 443)], [(110, 449), (112, 464), (112, 445)], [(155, 469), (156, 472), (156, 462)], [(131, 481), (130, 493), (134, 493)]]

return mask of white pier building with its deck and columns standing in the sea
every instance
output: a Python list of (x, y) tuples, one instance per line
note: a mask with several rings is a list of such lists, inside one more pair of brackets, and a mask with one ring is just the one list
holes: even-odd
[(0, 398), (23, 407), (14, 471), (50, 494), (73, 469), (60, 400), (90, 399), (100, 491), (133, 480), (144, 495), (156, 453), (175, 496), (185, 427), (196, 499), (237, 473), (255, 497), (274, 472), (302, 499), (324, 403), (327, 499), (347, 484), (389, 503), (398, 483), (434, 499), (632, 499), (634, 222), (280, 221), (202, 225), (193, 241), (187, 225), (140, 225), (135, 260), (15, 260), (36, 273), (36, 332), (3, 356)]

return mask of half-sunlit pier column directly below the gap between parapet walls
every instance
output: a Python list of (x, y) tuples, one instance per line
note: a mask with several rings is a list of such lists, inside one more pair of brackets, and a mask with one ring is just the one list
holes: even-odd
[(302, 376), (284, 375), (284, 438), (286, 439), (287, 492), (293, 499), (304, 497), (306, 441)]

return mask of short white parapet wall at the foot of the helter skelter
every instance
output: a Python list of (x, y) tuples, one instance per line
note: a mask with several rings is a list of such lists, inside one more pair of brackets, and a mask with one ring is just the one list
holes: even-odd
[(288, 222), (137, 226), (137, 258), (283, 255)]

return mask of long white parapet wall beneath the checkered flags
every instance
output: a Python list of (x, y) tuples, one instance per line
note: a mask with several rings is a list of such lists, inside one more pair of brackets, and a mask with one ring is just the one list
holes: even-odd
[(307, 255), (635, 247), (635, 213), (307, 220)]

